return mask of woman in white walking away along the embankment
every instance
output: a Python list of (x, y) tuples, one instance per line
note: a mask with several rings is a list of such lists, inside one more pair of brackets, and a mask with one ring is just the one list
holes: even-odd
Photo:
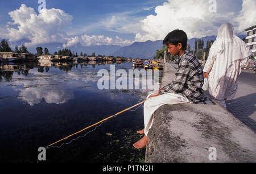
[(236, 95), (237, 76), (251, 55), (249, 46), (234, 34), (232, 24), (222, 24), (203, 70), (210, 95), (222, 106), (226, 107), (225, 100)]

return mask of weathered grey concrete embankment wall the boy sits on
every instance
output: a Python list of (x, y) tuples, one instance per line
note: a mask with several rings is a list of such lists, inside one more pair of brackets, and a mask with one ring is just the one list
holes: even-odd
[[(175, 71), (164, 65), (162, 86)], [(159, 107), (148, 139), (145, 162), (256, 162), (255, 132), (218, 103)]]

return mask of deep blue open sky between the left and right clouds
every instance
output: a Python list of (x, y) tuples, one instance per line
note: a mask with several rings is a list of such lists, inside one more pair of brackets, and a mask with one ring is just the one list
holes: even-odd
[[(127, 12), (131, 18), (143, 19), (147, 15), (154, 14), (154, 7), (161, 5), (163, 2), (164, 0), (46, 0), (46, 8), (61, 9), (64, 10), (65, 13), (73, 16), (72, 26), (70, 26), (69, 31), (67, 31), (71, 36), (86, 33), (89, 35), (106, 35), (109, 37), (122, 36), (123, 39), (130, 39), (131, 37), (134, 37), (135, 34), (118, 33), (104, 30), (104, 28), (93, 28), (93, 30), (84, 31), (82, 28), (95, 25), (98, 21), (104, 20), (106, 16), (111, 14), (122, 14)], [(22, 4), (25, 4), (27, 7), (32, 7), (35, 9), (36, 13), (39, 13), (37, 10), (39, 6), (38, 0), (1, 0), (0, 4), (1, 27), (4, 27), (7, 22), (11, 21), (8, 13), (19, 9)]]

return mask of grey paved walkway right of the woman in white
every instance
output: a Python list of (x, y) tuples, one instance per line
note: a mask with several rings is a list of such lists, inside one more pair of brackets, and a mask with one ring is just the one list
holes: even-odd
[[(171, 65), (177, 68), (177, 65)], [(226, 101), (227, 109), (256, 132), (256, 73), (244, 70), (237, 80), (237, 94), (232, 100)]]

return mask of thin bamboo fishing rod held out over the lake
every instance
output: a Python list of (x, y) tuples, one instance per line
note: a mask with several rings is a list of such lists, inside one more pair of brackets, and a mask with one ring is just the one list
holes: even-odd
[(52, 146), (53, 144), (56, 144), (56, 143), (59, 143), (59, 142), (65, 140), (65, 139), (68, 139), (69, 137), (71, 137), (71, 136), (73, 136), (73, 135), (79, 134), (80, 132), (85, 131), (86, 129), (89, 129), (90, 127), (93, 127), (93, 126), (96, 126), (96, 125), (98, 125), (98, 124), (100, 124), (100, 123), (102, 123), (102, 122), (105, 122), (105, 121), (107, 121), (107, 120), (110, 119), (110, 118), (116, 117), (117, 115), (122, 114), (122, 113), (124, 113), (124, 112), (127, 111), (127, 110), (130, 110), (130, 109), (133, 109), (133, 108), (136, 107), (136, 106), (142, 105), (142, 103), (144, 103), (144, 102), (146, 102), (146, 101), (147, 101), (147, 100), (144, 100), (144, 101), (142, 101), (142, 102), (140, 102), (140, 103), (137, 103), (136, 105), (131, 106), (131, 107), (128, 107), (127, 109), (122, 110), (122, 111), (120, 111), (119, 113), (116, 113), (116, 114), (114, 114), (114, 115), (111, 115), (111, 116), (108, 117), (108, 118), (102, 119), (102, 121), (97, 122), (97, 123), (95, 123), (95, 124), (93, 124), (93, 125), (90, 125), (90, 126), (86, 127), (85, 129), (82, 129), (82, 130), (77, 131), (77, 132), (75, 132), (75, 133), (73, 133), (73, 134), (71, 134), (71, 135), (68, 135), (67, 137), (65, 137), (65, 138), (63, 138), (63, 139), (60, 139), (60, 140), (58, 140), (58, 141), (55, 142), (55, 143), (49, 144), (49, 145), (47, 146), (47, 148), (50, 147), (50, 146)]

